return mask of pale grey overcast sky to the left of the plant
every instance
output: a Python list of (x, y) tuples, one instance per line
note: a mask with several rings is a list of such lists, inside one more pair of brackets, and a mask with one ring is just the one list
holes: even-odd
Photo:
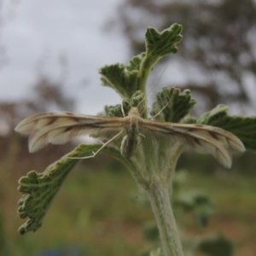
[[(50, 78), (60, 79), (60, 55), (67, 56), (66, 93), (80, 113), (96, 114), (120, 102), (100, 85), (97, 69), (127, 62), (127, 42), (120, 32), (106, 32), (120, 0), (2, 0), (1, 44), (7, 63), (0, 70), (0, 101), (29, 96), (38, 64)], [(100, 93), (99, 93), (100, 92)]]

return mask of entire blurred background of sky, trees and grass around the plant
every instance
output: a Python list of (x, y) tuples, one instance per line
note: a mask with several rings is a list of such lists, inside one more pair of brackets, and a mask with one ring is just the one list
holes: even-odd
[[(255, 116), (255, 0), (0, 0), (0, 255), (139, 255), (153, 246), (142, 232), (154, 220), (150, 208), (138, 203), (125, 167), (103, 154), (73, 170), (40, 230), (20, 236), (18, 179), (43, 172), (75, 143), (29, 154), (27, 138), (14, 128), (36, 112), (96, 114), (119, 103), (97, 70), (144, 51), (147, 26), (161, 31), (172, 23), (183, 25), (183, 40), (177, 55), (154, 68), (148, 86), (160, 80), (150, 101), (160, 87), (177, 86), (192, 91), (197, 117), (218, 104), (233, 115)], [(237, 157), (225, 170), (188, 151), (178, 162), (184, 168), (181, 189), (205, 191), (215, 212), (203, 226), (189, 215), (178, 218), (183, 235), (219, 231), (232, 241), (230, 255), (256, 255), (255, 154)]]

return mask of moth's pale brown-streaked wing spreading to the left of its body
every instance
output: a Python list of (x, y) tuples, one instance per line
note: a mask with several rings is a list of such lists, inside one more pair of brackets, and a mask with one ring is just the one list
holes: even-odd
[(78, 135), (115, 134), (122, 129), (123, 118), (60, 112), (33, 114), (23, 119), (15, 131), (29, 135), (29, 151), (36, 152), (48, 143), (64, 144)]

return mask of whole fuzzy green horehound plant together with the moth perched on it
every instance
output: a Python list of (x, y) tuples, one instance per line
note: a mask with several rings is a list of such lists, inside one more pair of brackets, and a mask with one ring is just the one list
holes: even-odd
[[(152, 255), (183, 255), (170, 195), (177, 160), (189, 145), (212, 154), (218, 162), (231, 166), (231, 155), (255, 149), (255, 119), (230, 117), (219, 105), (200, 119), (189, 117), (195, 105), (189, 90), (163, 88), (156, 96), (148, 119), (146, 82), (155, 63), (177, 52), (182, 26), (173, 24), (163, 32), (148, 27), (146, 51), (127, 66), (114, 64), (100, 69), (102, 83), (124, 98), (121, 105), (106, 107), (107, 116), (76, 113), (36, 113), (20, 122), (15, 131), (29, 135), (30, 152), (47, 143), (67, 143), (74, 136), (90, 134), (105, 143), (80, 144), (71, 153), (46, 168), (43, 173), (28, 172), (20, 178), (20, 218), (27, 218), (19, 231), (36, 231), (61, 183), (81, 158), (98, 152), (110, 154), (131, 172), (140, 189), (148, 195), (160, 232), (161, 248)], [(254, 124), (254, 126), (253, 126)], [(99, 156), (96, 156), (99, 157)]]

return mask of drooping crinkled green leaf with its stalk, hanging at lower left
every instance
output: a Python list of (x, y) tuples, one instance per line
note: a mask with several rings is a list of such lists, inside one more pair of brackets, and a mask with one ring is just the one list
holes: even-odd
[[(27, 231), (36, 231), (42, 225), (43, 218), (49, 209), (61, 184), (64, 182), (68, 173), (78, 163), (79, 159), (70, 159), (68, 157), (90, 156), (101, 148), (101, 144), (85, 145), (80, 144), (71, 153), (66, 154), (60, 160), (55, 161), (48, 166), (44, 172), (28, 172), (26, 177), (20, 177), (18, 190), (23, 193), (18, 207), (20, 218), (29, 218), (25, 224), (20, 226), (21, 235)], [(120, 160), (128, 168), (132, 168), (131, 162), (126, 160), (119, 150), (113, 147), (102, 148), (102, 152), (111, 154)]]

